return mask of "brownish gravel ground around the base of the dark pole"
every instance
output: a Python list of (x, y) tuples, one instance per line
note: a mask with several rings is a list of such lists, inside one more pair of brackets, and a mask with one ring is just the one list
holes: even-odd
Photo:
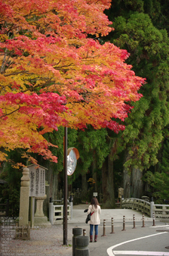
[(30, 240), (8, 241), (8, 254), (1, 256), (72, 256), (72, 228), (67, 231), (67, 244), (63, 245), (63, 225), (45, 229), (31, 229)]

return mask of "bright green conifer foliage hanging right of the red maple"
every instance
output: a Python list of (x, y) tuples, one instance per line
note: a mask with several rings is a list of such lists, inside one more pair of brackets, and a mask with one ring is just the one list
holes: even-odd
[[(146, 1), (145, 1), (146, 2)], [(130, 53), (128, 64), (138, 76), (146, 77), (140, 89), (143, 98), (135, 103), (134, 109), (125, 120), (126, 129), (120, 138), (122, 148), (128, 148), (128, 159), (124, 166), (131, 170), (137, 167), (148, 169), (158, 162), (158, 150), (169, 123), (169, 40), (167, 30), (159, 30), (160, 22), (146, 14), (144, 1), (112, 1), (109, 19), (115, 31), (108, 39)], [(159, 1), (149, 1), (154, 9)], [(164, 2), (167, 5), (167, 2)], [(151, 8), (152, 10), (152, 8)], [(121, 15), (121, 16), (119, 16)], [(152, 15), (152, 14), (151, 14)], [(158, 13), (157, 17), (162, 17)]]

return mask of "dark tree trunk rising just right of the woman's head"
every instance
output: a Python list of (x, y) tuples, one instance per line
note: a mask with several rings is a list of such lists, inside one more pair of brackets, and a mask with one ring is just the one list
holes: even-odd
[(113, 160), (111, 154), (102, 167), (103, 208), (115, 208), (115, 193), (113, 182)]

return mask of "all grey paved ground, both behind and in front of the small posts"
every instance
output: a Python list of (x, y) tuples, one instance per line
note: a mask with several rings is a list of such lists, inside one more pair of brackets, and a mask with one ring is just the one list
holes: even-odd
[[(83, 214), (85, 208), (88, 208), (85, 204), (74, 206), (73, 217), (72, 220), (69, 220), (69, 225), (86, 229), (88, 236), (89, 225), (85, 224), (86, 214)], [(136, 229), (133, 229), (133, 214), (135, 215)], [(125, 226), (123, 216), (125, 216)], [(112, 217), (114, 220), (114, 234), (111, 234)], [(103, 236), (103, 220), (106, 220), (106, 236)], [(143, 214), (138, 211), (125, 209), (102, 210), (98, 242), (89, 244), (90, 256), (169, 256), (169, 248), (166, 248), (169, 246), (168, 223), (155, 220), (155, 226), (152, 225), (153, 220), (149, 217), (145, 217), (143, 225)], [(126, 230), (122, 231), (124, 227)]]

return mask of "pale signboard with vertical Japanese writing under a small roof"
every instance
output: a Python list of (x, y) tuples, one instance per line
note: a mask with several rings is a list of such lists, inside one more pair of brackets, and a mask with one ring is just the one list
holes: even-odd
[(29, 165), (29, 196), (45, 196), (45, 167)]

